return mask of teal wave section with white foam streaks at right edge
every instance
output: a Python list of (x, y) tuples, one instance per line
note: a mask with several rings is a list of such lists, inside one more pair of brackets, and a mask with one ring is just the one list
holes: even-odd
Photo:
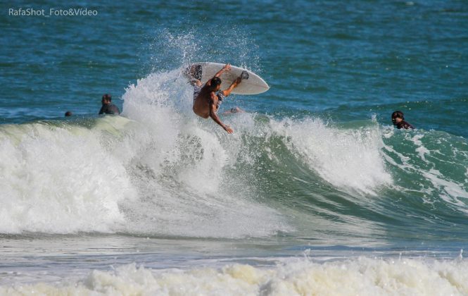
[(468, 212), (467, 142), (445, 132), (386, 131), (384, 151), (400, 178), (415, 180), (397, 189), (421, 192), (424, 202), (443, 201), (455, 211)]

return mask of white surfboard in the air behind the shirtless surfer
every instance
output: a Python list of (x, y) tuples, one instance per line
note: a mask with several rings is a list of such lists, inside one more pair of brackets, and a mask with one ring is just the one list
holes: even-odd
[[(193, 63), (187, 68), (186, 73), (190, 75), (191, 78), (196, 78), (201, 80), (202, 83), (205, 83), (213, 78), (213, 76), (221, 70), (222, 67), (224, 67), (224, 63)], [(232, 90), (232, 94), (261, 94), (262, 92), (266, 92), (270, 89), (267, 82), (255, 73), (243, 68), (231, 66), (231, 70), (225, 71), (220, 76), (222, 80), (221, 90), (227, 89), (227, 87), (229, 87), (229, 85), (231, 85), (231, 83), (236, 80), (243, 71), (248, 73), (248, 75), (244, 74), (244, 77), (248, 78), (243, 79), (242, 82)]]

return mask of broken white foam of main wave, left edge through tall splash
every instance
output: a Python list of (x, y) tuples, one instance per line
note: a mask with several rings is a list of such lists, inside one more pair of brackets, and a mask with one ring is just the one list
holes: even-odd
[(193, 89), (180, 73), (129, 86), (123, 115), (131, 120), (108, 116), (90, 129), (4, 127), (0, 232), (239, 238), (291, 229), (247, 185), (224, 184), (239, 182), (226, 176), (235, 145), (194, 116)]

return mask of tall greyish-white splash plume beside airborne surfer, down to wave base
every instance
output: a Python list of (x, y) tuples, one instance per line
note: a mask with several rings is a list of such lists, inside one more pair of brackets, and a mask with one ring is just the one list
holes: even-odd
[(134, 221), (125, 229), (228, 238), (291, 229), (279, 213), (253, 202), (248, 185), (225, 185), (239, 182), (228, 178), (226, 170), (235, 164), (242, 143), (239, 136), (235, 140), (235, 135), (194, 115), (193, 88), (180, 73), (149, 75), (123, 97), (125, 116), (138, 122), (122, 147), (141, 196), (139, 203), (124, 204)]

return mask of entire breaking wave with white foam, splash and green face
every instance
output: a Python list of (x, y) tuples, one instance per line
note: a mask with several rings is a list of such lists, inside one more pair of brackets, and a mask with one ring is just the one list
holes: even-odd
[(463, 137), (248, 112), (227, 135), (180, 73), (130, 85), (123, 117), (1, 125), (0, 233), (467, 238)]

